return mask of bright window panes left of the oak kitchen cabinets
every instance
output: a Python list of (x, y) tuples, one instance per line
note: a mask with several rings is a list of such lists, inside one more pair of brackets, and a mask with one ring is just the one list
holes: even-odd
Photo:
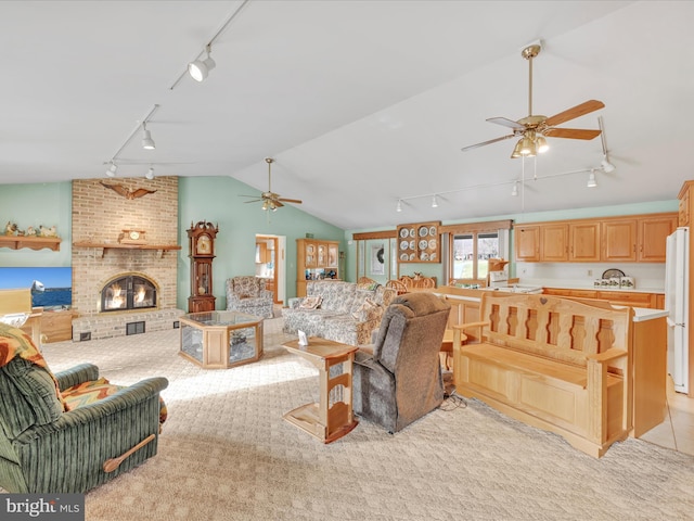
[(452, 234), (452, 279), (486, 279), (490, 258), (499, 258), (499, 232)]

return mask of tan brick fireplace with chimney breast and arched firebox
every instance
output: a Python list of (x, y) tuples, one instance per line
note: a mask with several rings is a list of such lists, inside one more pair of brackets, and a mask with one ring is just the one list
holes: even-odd
[[(102, 182), (155, 191), (129, 199)], [(176, 308), (179, 251), (110, 247), (119, 245), (124, 230), (144, 231), (147, 246), (176, 245), (178, 178), (73, 181), (74, 341), (171, 329), (183, 314)], [(143, 281), (151, 284), (145, 290), (150, 293), (138, 295)], [(137, 304), (141, 297), (146, 305)]]

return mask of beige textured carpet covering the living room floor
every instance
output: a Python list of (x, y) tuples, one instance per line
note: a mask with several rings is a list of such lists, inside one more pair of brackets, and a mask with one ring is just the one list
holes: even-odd
[(178, 356), (178, 330), (47, 345), (54, 370), (170, 382), (158, 455), (90, 492), (87, 520), (694, 519), (693, 457), (628, 440), (596, 460), (476, 401), (323, 445), (282, 419), (318, 394), (285, 338), (267, 320), (265, 356), (230, 370)]

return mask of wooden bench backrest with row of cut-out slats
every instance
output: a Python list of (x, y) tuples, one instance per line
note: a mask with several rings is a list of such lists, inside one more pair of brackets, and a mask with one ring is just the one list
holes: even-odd
[(547, 295), (483, 293), (486, 341), (578, 366), (612, 347), (630, 351), (633, 309)]

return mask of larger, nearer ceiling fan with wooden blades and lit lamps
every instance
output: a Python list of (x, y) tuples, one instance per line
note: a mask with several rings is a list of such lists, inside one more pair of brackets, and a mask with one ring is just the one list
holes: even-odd
[(523, 49), (520, 55), (528, 61), (529, 66), (529, 92), (528, 92), (528, 115), (517, 122), (505, 117), (490, 117), (490, 123), (510, 127), (513, 134), (501, 138), (490, 139), (481, 143), (472, 144), (461, 149), (463, 152), (486, 144), (496, 143), (511, 138), (519, 138), (511, 157), (532, 157), (537, 153), (545, 152), (549, 149), (545, 138), (567, 138), (567, 139), (593, 139), (600, 136), (600, 130), (589, 130), (579, 128), (556, 128), (556, 125), (575, 119), (579, 116), (590, 114), (605, 106), (602, 101), (589, 100), (580, 105), (576, 105), (564, 112), (560, 112), (554, 116), (547, 117), (532, 114), (532, 59), (536, 58), (542, 49), (541, 42), (535, 42)]

